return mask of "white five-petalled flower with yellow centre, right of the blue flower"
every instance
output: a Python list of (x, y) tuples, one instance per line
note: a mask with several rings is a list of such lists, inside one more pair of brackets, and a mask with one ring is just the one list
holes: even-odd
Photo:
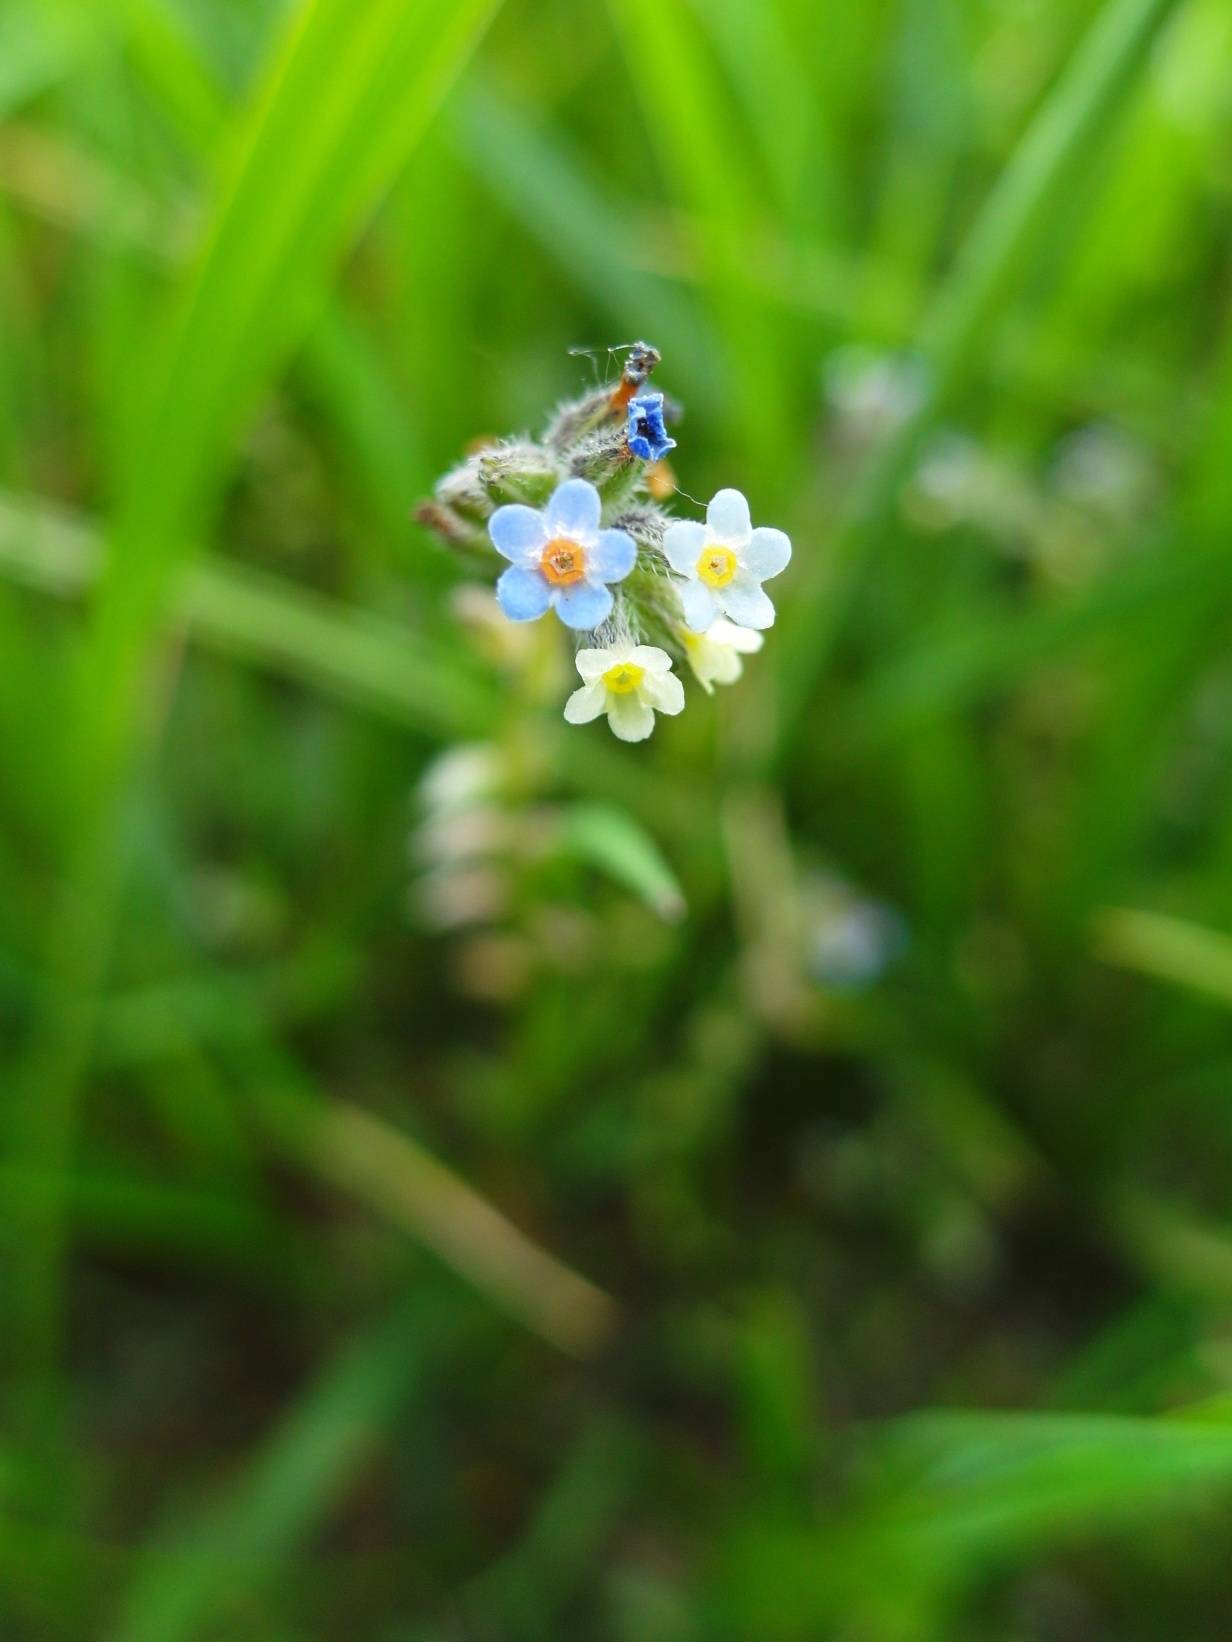
[(792, 544), (782, 530), (754, 530), (739, 491), (718, 491), (705, 524), (678, 519), (669, 525), (664, 553), (685, 578), (677, 591), (693, 632), (705, 632), (716, 616), (729, 616), (741, 627), (774, 626), (774, 604), (762, 581), (785, 570)]

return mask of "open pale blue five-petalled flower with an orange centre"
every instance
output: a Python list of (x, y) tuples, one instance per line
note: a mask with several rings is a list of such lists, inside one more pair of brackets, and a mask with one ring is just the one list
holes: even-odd
[(496, 601), (509, 621), (537, 621), (555, 609), (567, 627), (600, 627), (611, 614), (611, 583), (624, 581), (637, 547), (624, 530), (600, 530), (600, 493), (588, 479), (557, 484), (547, 507), (509, 502), (488, 535), (509, 570)]

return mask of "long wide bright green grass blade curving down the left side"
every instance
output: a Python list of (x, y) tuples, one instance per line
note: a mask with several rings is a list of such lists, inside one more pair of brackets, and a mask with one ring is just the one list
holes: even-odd
[[(199, 540), (227, 445), (310, 319), (330, 263), (404, 163), (494, 5), (445, 11), (343, 0), (294, 11), (237, 143), (200, 258), (164, 335), (149, 345), (143, 409), (128, 429), (108, 575), (62, 742), (79, 772), (66, 908), (48, 944), (51, 985), (23, 1079), (21, 1151), (36, 1177), (64, 1176), (92, 997), (108, 944), (118, 867), (117, 780), (145, 722), (151, 645), (176, 573)], [(56, 1401), (62, 1204), (30, 1228), (15, 1315), (20, 1378)]]

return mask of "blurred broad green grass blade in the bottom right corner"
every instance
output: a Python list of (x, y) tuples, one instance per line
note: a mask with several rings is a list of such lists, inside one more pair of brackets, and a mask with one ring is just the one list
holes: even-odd
[(884, 1427), (866, 1465), (849, 1517), (820, 1530), (739, 1522), (713, 1583), (734, 1634), (764, 1626), (795, 1642), (856, 1624), (879, 1639), (951, 1635), (954, 1594), (987, 1570), (1227, 1489), (1232, 1424), (1219, 1407), (1160, 1419), (920, 1414)]

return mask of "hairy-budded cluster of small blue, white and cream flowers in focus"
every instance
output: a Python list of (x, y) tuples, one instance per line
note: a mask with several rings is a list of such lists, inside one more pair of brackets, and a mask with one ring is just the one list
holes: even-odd
[(565, 719), (606, 716), (621, 741), (646, 741), (655, 713), (683, 709), (673, 662), (708, 693), (739, 678), (774, 624), (764, 583), (792, 557), (782, 530), (754, 529), (739, 491), (718, 491), (705, 522), (664, 512), (678, 407), (646, 389), (657, 363), (636, 343), (614, 391), (562, 406), (540, 440), (476, 452), (417, 514), (452, 545), (508, 562), (496, 601), (509, 621), (552, 612), (590, 635)]

